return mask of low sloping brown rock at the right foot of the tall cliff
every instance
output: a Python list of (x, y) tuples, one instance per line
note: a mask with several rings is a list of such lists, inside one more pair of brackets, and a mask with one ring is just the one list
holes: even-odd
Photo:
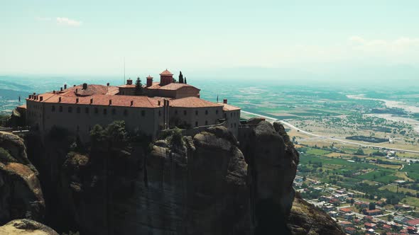
[(295, 235), (345, 234), (328, 214), (300, 198), (295, 198), (287, 223)]

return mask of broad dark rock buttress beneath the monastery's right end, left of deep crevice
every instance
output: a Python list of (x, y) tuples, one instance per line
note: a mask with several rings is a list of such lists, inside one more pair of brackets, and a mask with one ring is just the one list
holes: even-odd
[(116, 234), (251, 234), (246, 163), (224, 127), (153, 145)]

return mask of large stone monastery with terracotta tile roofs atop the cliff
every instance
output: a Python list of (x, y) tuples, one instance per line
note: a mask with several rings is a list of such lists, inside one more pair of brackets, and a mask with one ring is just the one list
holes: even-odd
[(160, 131), (180, 127), (198, 132), (213, 125), (224, 125), (238, 134), (240, 108), (200, 98), (200, 89), (173, 82), (167, 69), (160, 82), (147, 77), (141, 94), (131, 79), (122, 86), (82, 84), (60, 88), (26, 98), (26, 120), (33, 130), (48, 134), (52, 127), (63, 127), (89, 141), (94, 125), (124, 120), (129, 132), (142, 132), (156, 138)]

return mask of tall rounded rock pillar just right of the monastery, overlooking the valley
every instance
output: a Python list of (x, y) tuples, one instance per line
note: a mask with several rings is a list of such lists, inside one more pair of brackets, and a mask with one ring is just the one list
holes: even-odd
[(280, 123), (249, 120), (239, 130), (249, 164), (249, 190), (255, 234), (290, 234), (286, 219), (293, 205), (299, 155)]

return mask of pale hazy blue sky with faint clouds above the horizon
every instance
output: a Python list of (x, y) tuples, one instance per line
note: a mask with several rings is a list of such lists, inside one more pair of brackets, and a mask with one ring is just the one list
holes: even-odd
[(337, 2), (0, 0), (0, 74), (115, 75), (125, 57), (127, 74), (371, 67), (416, 76), (419, 1)]

